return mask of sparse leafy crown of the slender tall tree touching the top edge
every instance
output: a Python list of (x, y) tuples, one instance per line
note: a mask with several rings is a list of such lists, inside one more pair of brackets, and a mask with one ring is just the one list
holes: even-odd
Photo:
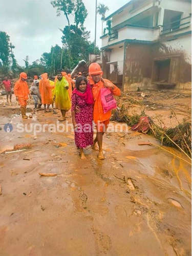
[(70, 26), (70, 21), (69, 21), (69, 15), (72, 14), (74, 11), (74, 1), (73, 0), (54, 0), (51, 1), (51, 4), (54, 8), (57, 8), (57, 16), (60, 16), (61, 11), (64, 12), (67, 21), (68, 21), (68, 26)]

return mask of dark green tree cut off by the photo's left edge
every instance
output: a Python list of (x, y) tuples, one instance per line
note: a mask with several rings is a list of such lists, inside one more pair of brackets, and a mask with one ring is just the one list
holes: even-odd
[(10, 49), (9, 49), (10, 37), (6, 32), (0, 31), (0, 60), (2, 62), (4, 72), (8, 72), (10, 64)]

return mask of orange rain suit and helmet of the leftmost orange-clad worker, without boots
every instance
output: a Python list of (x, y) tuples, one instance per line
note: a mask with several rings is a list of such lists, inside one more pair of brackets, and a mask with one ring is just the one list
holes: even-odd
[(29, 88), (26, 81), (22, 81), (22, 78), (27, 79), (27, 74), (20, 73), (19, 80), (16, 81), (14, 86), (14, 94), (18, 98), (20, 106), (27, 106), (27, 100), (29, 95)]

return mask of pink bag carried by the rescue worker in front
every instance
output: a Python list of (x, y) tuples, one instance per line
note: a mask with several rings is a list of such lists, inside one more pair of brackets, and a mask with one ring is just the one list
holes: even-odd
[(112, 92), (108, 88), (101, 88), (100, 94), (104, 114), (117, 108), (117, 102), (114, 99)]

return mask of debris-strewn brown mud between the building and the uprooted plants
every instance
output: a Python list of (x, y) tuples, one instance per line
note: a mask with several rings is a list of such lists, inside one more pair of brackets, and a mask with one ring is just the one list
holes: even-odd
[(191, 122), (190, 91), (127, 92), (122, 93), (119, 99), (119, 105), (125, 106), (128, 115), (140, 115), (144, 111), (157, 125), (165, 128)]

